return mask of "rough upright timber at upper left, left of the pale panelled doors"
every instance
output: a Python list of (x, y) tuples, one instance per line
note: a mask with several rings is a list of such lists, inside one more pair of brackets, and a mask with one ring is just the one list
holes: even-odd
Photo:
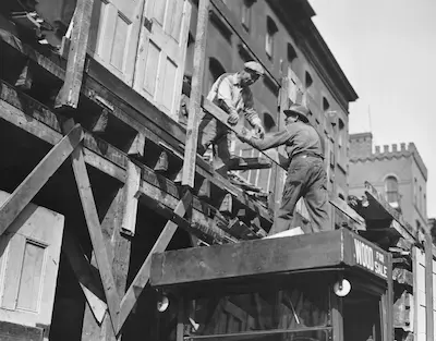
[(93, 4), (94, 0), (77, 0), (75, 5), (65, 80), (56, 99), (56, 108), (77, 108), (88, 46)]

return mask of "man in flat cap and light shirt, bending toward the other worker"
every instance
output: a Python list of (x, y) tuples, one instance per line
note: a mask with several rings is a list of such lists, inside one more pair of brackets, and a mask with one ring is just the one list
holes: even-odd
[[(256, 134), (263, 137), (264, 126), (254, 109), (253, 93), (250, 86), (264, 75), (264, 69), (257, 62), (250, 61), (238, 73), (225, 73), (211, 86), (207, 99), (225, 110), (228, 123), (235, 125), (243, 113), (249, 123), (255, 129)], [(232, 132), (211, 114), (204, 113), (198, 126), (197, 151), (204, 155), (213, 145), (214, 169), (227, 178), (230, 162), (230, 141)]]

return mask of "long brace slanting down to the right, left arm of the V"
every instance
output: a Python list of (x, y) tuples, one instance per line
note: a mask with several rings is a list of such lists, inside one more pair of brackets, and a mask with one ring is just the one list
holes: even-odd
[[(64, 123), (63, 129), (68, 131), (73, 120)], [(117, 330), (117, 316), (119, 313), (120, 297), (117, 293), (112, 269), (107, 255), (101, 226), (98, 218), (97, 207), (89, 183), (88, 172), (83, 157), (82, 148), (76, 148), (72, 154), (72, 167), (77, 183), (78, 195), (82, 202), (83, 212), (89, 232), (90, 242), (96, 256), (100, 279), (104, 285), (106, 302), (108, 303), (113, 330)]]

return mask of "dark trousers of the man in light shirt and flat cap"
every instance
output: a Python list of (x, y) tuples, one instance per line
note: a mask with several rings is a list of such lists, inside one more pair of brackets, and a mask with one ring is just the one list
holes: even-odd
[(217, 119), (206, 113), (198, 126), (197, 153), (204, 155), (206, 149), (213, 145), (214, 170), (227, 178), (230, 162), (230, 141), (232, 132)]

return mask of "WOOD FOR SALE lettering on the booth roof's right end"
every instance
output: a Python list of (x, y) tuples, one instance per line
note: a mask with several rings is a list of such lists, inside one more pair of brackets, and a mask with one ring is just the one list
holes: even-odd
[(386, 255), (377, 249), (375, 249), (370, 244), (358, 240), (353, 240), (353, 259), (355, 264), (365, 270), (375, 273), (383, 279), (388, 278), (388, 259)]

